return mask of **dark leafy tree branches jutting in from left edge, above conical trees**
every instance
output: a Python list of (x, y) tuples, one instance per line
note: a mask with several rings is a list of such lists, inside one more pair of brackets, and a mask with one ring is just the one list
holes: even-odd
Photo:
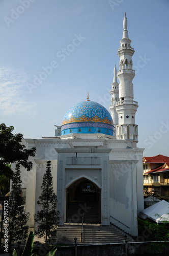
[(13, 176), (13, 171), (8, 163), (18, 163), (29, 171), (32, 168), (32, 162), (28, 161), (29, 156), (35, 156), (36, 151), (35, 147), (26, 150), (22, 144), (23, 135), (12, 134), (13, 130), (13, 126), (0, 124), (0, 175), (9, 178)]

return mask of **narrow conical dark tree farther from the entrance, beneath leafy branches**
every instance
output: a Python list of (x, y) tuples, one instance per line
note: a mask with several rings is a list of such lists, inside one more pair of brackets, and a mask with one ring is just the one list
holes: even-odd
[(9, 234), (9, 247), (13, 242), (24, 242), (28, 226), (26, 225), (29, 219), (29, 213), (25, 212), (24, 200), (21, 197), (21, 179), (20, 179), (20, 166), (16, 164), (16, 172), (12, 178), (12, 189), (10, 191), (10, 198), (8, 204), (8, 234)]

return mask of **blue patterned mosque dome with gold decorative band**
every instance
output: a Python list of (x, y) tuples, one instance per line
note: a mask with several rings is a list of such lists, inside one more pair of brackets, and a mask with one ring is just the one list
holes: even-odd
[(71, 133), (103, 133), (114, 135), (110, 113), (101, 104), (86, 100), (72, 106), (64, 116), (62, 135)]

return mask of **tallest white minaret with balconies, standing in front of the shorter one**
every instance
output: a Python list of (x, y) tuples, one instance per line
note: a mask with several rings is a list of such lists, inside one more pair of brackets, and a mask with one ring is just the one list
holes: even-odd
[(135, 113), (138, 108), (138, 102), (133, 98), (132, 79), (135, 71), (132, 69), (132, 55), (134, 49), (131, 47), (131, 40), (128, 38), (127, 17), (123, 20), (123, 38), (120, 41), (118, 55), (120, 57), (118, 79), (119, 84), (119, 102), (116, 102), (116, 111), (119, 117), (117, 125), (117, 139), (127, 139), (138, 142), (137, 125), (135, 124)]

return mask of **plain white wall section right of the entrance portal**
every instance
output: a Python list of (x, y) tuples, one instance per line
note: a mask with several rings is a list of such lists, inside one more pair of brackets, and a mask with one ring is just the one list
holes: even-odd
[(110, 161), (110, 220), (132, 236), (137, 236), (136, 163)]

